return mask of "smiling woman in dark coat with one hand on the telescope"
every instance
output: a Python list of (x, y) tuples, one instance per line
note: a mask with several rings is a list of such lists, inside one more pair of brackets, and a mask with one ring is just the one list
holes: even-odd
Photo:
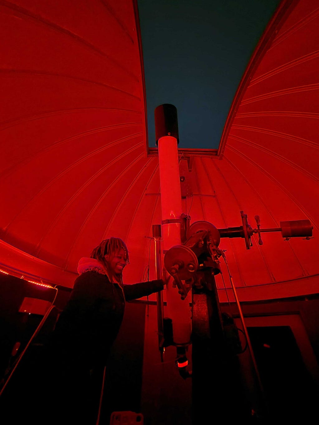
[[(48, 337), (45, 356), (36, 365), (32, 362), (37, 368), (32, 386), (36, 393), (39, 388), (41, 391), (36, 394), (41, 409), (31, 412), (33, 424), (43, 423), (43, 414), (48, 411), (47, 424), (61, 418), (63, 423), (97, 422), (105, 365), (122, 324), (125, 302), (159, 292), (168, 281), (163, 278), (123, 284), (122, 271), (127, 263), (128, 249), (120, 238), (105, 239), (90, 258), (80, 259), (79, 276)], [(34, 391), (30, 392), (32, 398)], [(28, 395), (20, 394), (20, 399), (19, 394), (14, 391), (14, 403), (32, 405)], [(54, 409), (53, 399), (57, 401)]]

